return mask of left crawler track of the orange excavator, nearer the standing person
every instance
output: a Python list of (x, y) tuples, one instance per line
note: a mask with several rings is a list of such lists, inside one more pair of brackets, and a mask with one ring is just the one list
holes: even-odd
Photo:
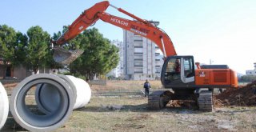
[(160, 110), (170, 101), (172, 93), (169, 90), (157, 90), (149, 95), (148, 108)]

